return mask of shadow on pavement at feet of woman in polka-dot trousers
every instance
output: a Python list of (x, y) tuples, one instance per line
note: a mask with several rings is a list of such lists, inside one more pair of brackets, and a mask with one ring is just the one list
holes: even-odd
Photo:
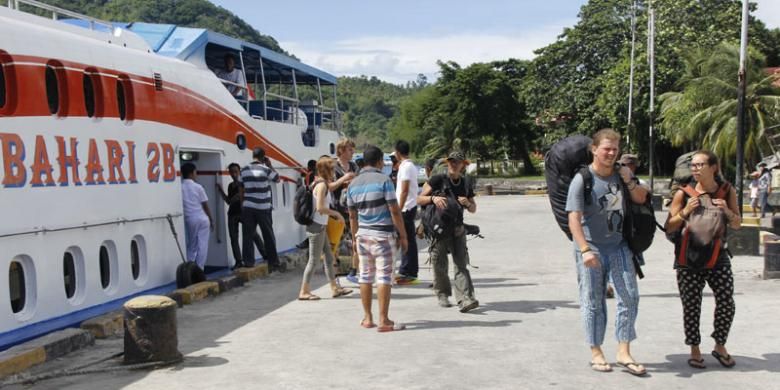
[(768, 353), (763, 355), (763, 359), (757, 359), (748, 356), (731, 355), (737, 363), (732, 368), (726, 368), (720, 365), (718, 361), (706, 350), (702, 350), (702, 357), (705, 369), (693, 368), (688, 365), (689, 354), (671, 354), (666, 355), (666, 362), (645, 363), (650, 372), (673, 373), (681, 378), (691, 378), (694, 375), (706, 375), (712, 371), (733, 371), (733, 372), (780, 372), (780, 353)]

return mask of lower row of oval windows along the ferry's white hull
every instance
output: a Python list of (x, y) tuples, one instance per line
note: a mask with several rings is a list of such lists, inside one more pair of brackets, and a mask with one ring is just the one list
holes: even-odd
[[(142, 237), (136, 236), (130, 242), (130, 272), (136, 283), (142, 282), (142, 273), (146, 270), (146, 246)], [(118, 283), (118, 261), (116, 246), (105, 241), (98, 252), (98, 271), (100, 286), (109, 292)], [(71, 304), (79, 304), (86, 286), (86, 264), (80, 248), (68, 248), (62, 257), (62, 280), (65, 298)], [(10, 290), (11, 311), (16, 315), (31, 311), (37, 297), (36, 266), (29, 256), (16, 256), (8, 269), (8, 288)], [(47, 287), (47, 286), (44, 286)]]

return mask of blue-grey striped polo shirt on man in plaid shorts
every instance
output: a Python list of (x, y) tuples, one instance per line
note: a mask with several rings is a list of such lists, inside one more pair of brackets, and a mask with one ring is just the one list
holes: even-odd
[(396, 204), (393, 182), (373, 167), (363, 168), (347, 189), (347, 207), (357, 211), (361, 236), (391, 237), (395, 226), (389, 206)]

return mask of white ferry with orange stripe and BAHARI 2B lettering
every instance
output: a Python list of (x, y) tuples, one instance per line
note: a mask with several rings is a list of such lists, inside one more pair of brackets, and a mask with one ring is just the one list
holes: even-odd
[[(247, 83), (215, 75), (226, 54)], [(0, 349), (174, 288), (184, 161), (215, 216), (207, 270), (234, 262), (215, 184), (258, 146), (281, 176), (277, 247), (294, 250), (295, 189), (335, 154), (335, 107), (333, 75), (213, 31), (0, 5)]]

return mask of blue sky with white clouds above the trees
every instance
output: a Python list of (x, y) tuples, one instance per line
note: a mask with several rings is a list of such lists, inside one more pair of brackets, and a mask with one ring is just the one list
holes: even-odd
[[(461, 66), (531, 59), (577, 22), (587, 0), (211, 0), (270, 35), (304, 63), (336, 76), (394, 84), (437, 78), (437, 60)], [(629, 1), (629, 0), (626, 0)], [(780, 0), (751, 0), (780, 27)], [(259, 4), (264, 4), (260, 5)], [(273, 5), (273, 6), (271, 6)]]

